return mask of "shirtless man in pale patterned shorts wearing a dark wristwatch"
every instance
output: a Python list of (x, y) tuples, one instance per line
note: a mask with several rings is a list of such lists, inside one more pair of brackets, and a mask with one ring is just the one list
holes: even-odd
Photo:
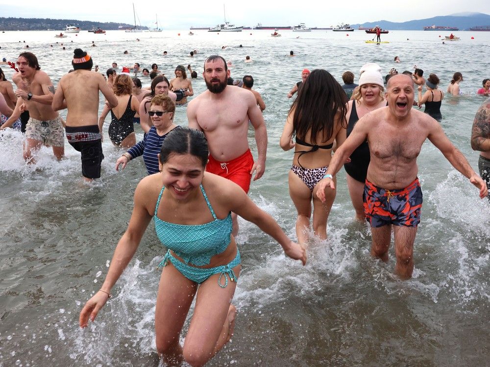
[(52, 146), (54, 156), (61, 160), (65, 154), (65, 133), (63, 119), (51, 108), (53, 83), (48, 74), (41, 71), (37, 57), (32, 52), (21, 53), (17, 66), (19, 72), (12, 76), (18, 88), (15, 91), (17, 103), (6, 124), (11, 119), (17, 120), (25, 110), (29, 111), (30, 117), (25, 127), (25, 161), (34, 163), (32, 154), (42, 144)]

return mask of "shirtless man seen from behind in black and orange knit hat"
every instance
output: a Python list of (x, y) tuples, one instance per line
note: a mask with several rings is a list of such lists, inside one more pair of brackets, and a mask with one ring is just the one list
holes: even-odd
[(64, 75), (58, 83), (52, 108), (55, 111), (68, 109), (66, 138), (82, 154), (84, 180), (92, 181), (100, 177), (100, 163), (104, 159), (98, 130), (98, 91), (110, 108), (116, 107), (118, 100), (104, 77), (91, 71), (93, 61), (87, 52), (76, 48), (72, 65), (74, 71)]

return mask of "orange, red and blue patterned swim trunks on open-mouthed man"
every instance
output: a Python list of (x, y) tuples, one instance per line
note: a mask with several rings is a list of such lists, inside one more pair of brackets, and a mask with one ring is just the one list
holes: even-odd
[(422, 189), (418, 178), (401, 190), (385, 190), (366, 180), (364, 212), (371, 227), (417, 227), (422, 208)]

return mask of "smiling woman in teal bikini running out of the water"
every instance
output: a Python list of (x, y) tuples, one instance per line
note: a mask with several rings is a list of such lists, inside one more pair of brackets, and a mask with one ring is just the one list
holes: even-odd
[[(80, 312), (80, 326), (96, 318), (111, 288), (127, 266), (151, 218), (168, 250), (155, 310), (156, 347), (169, 365), (183, 360), (202, 366), (232, 334), (236, 308), (231, 303), (240, 273), (240, 252), (231, 235), (233, 211), (271, 235), (287, 256), (306, 262), (305, 250), (292, 242), (269, 214), (233, 182), (205, 172), (208, 148), (193, 129), (169, 133), (160, 153), (161, 173), (145, 177), (134, 194), (128, 228), (114, 252), (100, 290)], [(183, 347), (180, 332), (196, 296)]]

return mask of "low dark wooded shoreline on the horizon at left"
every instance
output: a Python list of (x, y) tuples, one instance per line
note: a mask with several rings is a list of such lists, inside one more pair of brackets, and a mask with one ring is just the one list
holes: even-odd
[[(67, 24), (73, 24), (80, 27), (83, 30), (89, 30), (100, 27), (105, 30), (120, 29), (120, 25), (124, 28), (134, 27), (132, 24), (127, 23), (103, 23), (103, 22), (88, 22), (77, 21), (75, 19), (49, 19), (49, 18), (4, 18), (0, 17), (0, 31), (8, 30), (65, 30)], [(141, 27), (142, 29), (148, 29), (147, 27)]]

